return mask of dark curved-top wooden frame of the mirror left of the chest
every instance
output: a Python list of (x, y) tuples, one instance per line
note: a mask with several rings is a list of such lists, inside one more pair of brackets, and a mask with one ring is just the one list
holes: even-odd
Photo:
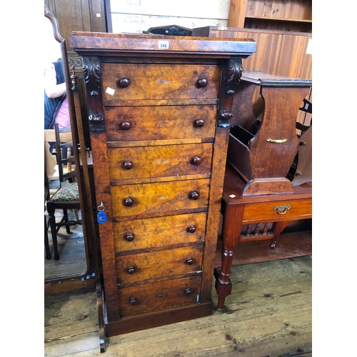
[[(86, 255), (86, 269), (85, 271), (81, 273), (74, 273), (74, 275), (69, 275), (69, 276), (54, 276), (53, 278), (45, 278), (45, 286), (48, 284), (55, 284), (55, 283), (61, 283), (62, 286), (66, 285), (65, 283), (69, 283), (72, 288), (76, 288), (76, 283), (73, 284), (74, 282), (79, 282), (82, 283), (82, 281), (90, 278), (93, 276), (93, 267), (91, 267), (91, 261), (90, 261), (90, 254), (89, 254), (89, 235), (87, 234), (88, 231), (88, 226), (86, 225), (86, 215), (85, 215), (85, 210), (84, 210), (84, 186), (82, 183), (83, 176), (86, 175), (83, 171), (83, 166), (82, 169), (79, 169), (79, 163), (81, 162), (79, 160), (79, 146), (78, 146), (78, 139), (77, 139), (77, 132), (76, 132), (76, 111), (74, 108), (74, 94), (71, 89), (71, 76), (69, 74), (69, 65), (68, 65), (68, 56), (67, 56), (67, 51), (66, 51), (66, 41), (65, 39), (61, 36), (59, 32), (59, 24), (56, 19), (56, 17), (51, 14), (49, 9), (47, 8), (46, 5), (44, 5), (44, 16), (51, 21), (52, 29), (53, 29), (53, 34), (54, 34), (54, 39), (59, 42), (59, 46), (61, 49), (61, 59), (64, 67), (64, 76), (66, 78), (66, 96), (69, 104), (69, 116), (70, 116), (70, 121), (71, 121), (71, 133), (72, 133), (72, 140), (74, 144), (74, 158), (75, 158), (75, 163), (76, 163), (76, 171), (77, 171), (77, 181), (79, 184), (79, 197), (80, 197), (80, 203), (81, 203), (81, 219), (82, 219), (82, 227), (83, 227), (83, 236), (84, 236), (84, 248), (85, 248), (85, 255)], [(85, 154), (84, 154), (85, 155)], [(83, 160), (82, 160), (83, 161)], [(85, 166), (85, 169), (87, 169), (87, 166)], [(90, 215), (89, 215), (90, 216)], [(90, 220), (89, 220), (90, 221)], [(73, 286), (74, 285), (74, 286)], [(83, 284), (81, 284), (83, 285)], [(94, 286), (94, 282), (93, 282)], [(46, 288), (45, 288), (46, 292)]]

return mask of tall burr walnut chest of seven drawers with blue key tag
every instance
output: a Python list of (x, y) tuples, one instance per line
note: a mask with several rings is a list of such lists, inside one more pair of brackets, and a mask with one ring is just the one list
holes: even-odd
[[(106, 336), (211, 314), (231, 105), (250, 40), (74, 32)], [(102, 223), (101, 223), (102, 222)]]

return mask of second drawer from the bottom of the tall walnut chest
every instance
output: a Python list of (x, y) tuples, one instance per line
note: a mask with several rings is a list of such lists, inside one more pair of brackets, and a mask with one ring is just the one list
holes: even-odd
[(116, 272), (121, 285), (201, 270), (201, 245), (116, 257)]

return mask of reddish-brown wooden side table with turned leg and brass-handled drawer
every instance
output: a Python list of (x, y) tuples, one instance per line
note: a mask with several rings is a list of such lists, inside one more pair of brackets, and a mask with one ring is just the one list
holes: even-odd
[(288, 223), (312, 218), (312, 185), (294, 186), (293, 193), (243, 196), (246, 182), (230, 166), (226, 167), (223, 186), (223, 226), (221, 268), (216, 268), (218, 308), (231, 294), (229, 278), (233, 253), (238, 243), (271, 239), (274, 249)]

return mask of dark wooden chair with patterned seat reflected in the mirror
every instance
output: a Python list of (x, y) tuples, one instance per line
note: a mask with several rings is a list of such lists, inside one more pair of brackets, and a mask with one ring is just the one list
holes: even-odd
[[(79, 201), (79, 188), (76, 182), (76, 171), (74, 166), (74, 156), (71, 154), (71, 147), (73, 146), (71, 141), (71, 131), (60, 132), (59, 127), (55, 124), (55, 129), (45, 130), (45, 177), (47, 177), (48, 188), (50, 181), (54, 181), (57, 178), (59, 188), (52, 190), (49, 188), (49, 196), (46, 199), (46, 209), (49, 213), (49, 222), (46, 223), (47, 229), (51, 228), (52, 242), (54, 245), (54, 259), (59, 260), (59, 250), (57, 244), (57, 233), (61, 226), (66, 226), (66, 233), (70, 234), (70, 226), (81, 224), (81, 220), (78, 218), (76, 211), (80, 210)], [(55, 166), (51, 166), (54, 163), (54, 156), (49, 151), (51, 142), (55, 142)], [(67, 155), (64, 158), (64, 151)], [(46, 178), (45, 178), (46, 186)], [(59, 222), (56, 222), (54, 215), (56, 209), (63, 211), (63, 217)], [(74, 210), (75, 219), (69, 221), (68, 210)], [(46, 239), (46, 234), (45, 234)], [(46, 246), (46, 258), (51, 258), (49, 251), (47, 250), (48, 242)]]

